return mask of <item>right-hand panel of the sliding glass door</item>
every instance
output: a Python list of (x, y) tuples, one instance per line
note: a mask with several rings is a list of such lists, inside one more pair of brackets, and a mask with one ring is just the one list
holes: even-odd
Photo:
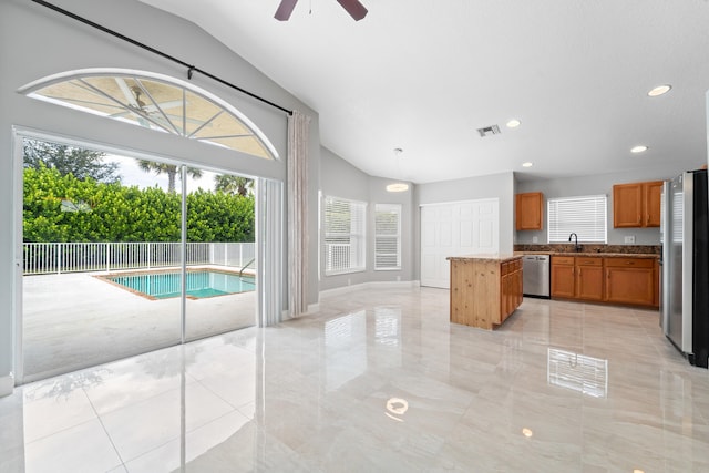
[(187, 168), (199, 175), (187, 194), (185, 338), (250, 327), (256, 313), (254, 181)]

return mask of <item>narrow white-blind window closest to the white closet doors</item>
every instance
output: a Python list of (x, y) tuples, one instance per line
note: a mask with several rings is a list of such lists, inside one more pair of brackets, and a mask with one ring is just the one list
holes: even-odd
[(401, 205), (374, 206), (374, 269), (401, 269)]

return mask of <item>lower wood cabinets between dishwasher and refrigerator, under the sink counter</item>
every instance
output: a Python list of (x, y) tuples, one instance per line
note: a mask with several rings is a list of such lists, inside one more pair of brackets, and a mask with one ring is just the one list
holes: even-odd
[(659, 305), (659, 266), (655, 258), (552, 256), (552, 297)]

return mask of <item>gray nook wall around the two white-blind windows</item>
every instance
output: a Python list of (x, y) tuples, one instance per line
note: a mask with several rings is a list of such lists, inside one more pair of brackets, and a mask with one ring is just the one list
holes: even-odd
[[(352, 166), (331, 151), (322, 148), (320, 152), (320, 185), (322, 197), (333, 196), (352, 200), (366, 202), (367, 205), (367, 268), (364, 271), (343, 275), (326, 276), (320, 271), (320, 290), (335, 289), (369, 281), (410, 281), (413, 278), (413, 193), (389, 193), (387, 184), (392, 181), (373, 177)], [(401, 204), (401, 249), (402, 268), (398, 271), (376, 271), (374, 268), (374, 204)]]

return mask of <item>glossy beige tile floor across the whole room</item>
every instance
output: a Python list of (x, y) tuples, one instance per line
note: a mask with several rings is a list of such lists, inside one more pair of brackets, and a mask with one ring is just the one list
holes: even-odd
[(486, 332), (445, 290), (357, 290), (16, 389), (21, 471), (708, 472), (709, 372), (656, 311), (525, 299)]

